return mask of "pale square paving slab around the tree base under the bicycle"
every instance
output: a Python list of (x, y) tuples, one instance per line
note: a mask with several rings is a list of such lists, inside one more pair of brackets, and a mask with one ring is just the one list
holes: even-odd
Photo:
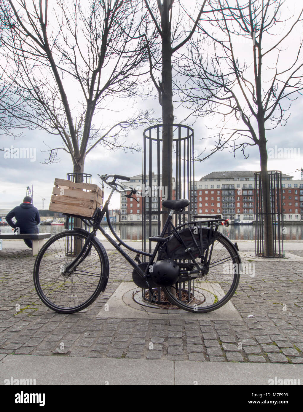
[(181, 320), (220, 320), (240, 321), (241, 317), (233, 304), (229, 301), (216, 311), (195, 314), (182, 309), (158, 309), (136, 303), (132, 296), (141, 293), (133, 282), (122, 282), (115, 293), (107, 302), (108, 306), (102, 307), (97, 318), (133, 318), (133, 319), (181, 319)]

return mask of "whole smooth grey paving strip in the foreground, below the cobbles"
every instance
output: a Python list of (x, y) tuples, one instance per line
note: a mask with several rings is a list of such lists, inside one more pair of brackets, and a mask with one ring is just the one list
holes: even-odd
[(5, 379), (62, 386), (288, 386), (303, 382), (303, 365), (7, 355), (0, 362), (0, 385), (7, 384)]

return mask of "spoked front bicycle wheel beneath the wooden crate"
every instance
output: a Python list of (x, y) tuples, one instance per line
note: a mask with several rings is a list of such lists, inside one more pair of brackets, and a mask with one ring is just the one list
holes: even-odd
[(92, 239), (78, 265), (65, 273), (82, 249), (88, 232), (69, 230), (42, 246), (34, 266), (34, 285), (42, 302), (59, 313), (73, 313), (92, 304), (108, 281), (108, 257)]

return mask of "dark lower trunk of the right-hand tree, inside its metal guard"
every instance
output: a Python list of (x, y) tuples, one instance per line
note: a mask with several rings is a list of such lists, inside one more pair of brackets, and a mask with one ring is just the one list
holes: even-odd
[(259, 128), (259, 152), (261, 166), (262, 184), (262, 206), (263, 206), (263, 233), (264, 233), (264, 256), (274, 257), (273, 234), (272, 234), (272, 207), (270, 202), (270, 187), (267, 170), (267, 150), (264, 125)]

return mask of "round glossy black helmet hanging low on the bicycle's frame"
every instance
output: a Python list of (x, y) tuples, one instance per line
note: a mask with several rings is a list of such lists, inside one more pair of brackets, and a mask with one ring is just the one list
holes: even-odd
[(150, 277), (156, 285), (171, 286), (179, 279), (179, 266), (172, 259), (157, 260)]

